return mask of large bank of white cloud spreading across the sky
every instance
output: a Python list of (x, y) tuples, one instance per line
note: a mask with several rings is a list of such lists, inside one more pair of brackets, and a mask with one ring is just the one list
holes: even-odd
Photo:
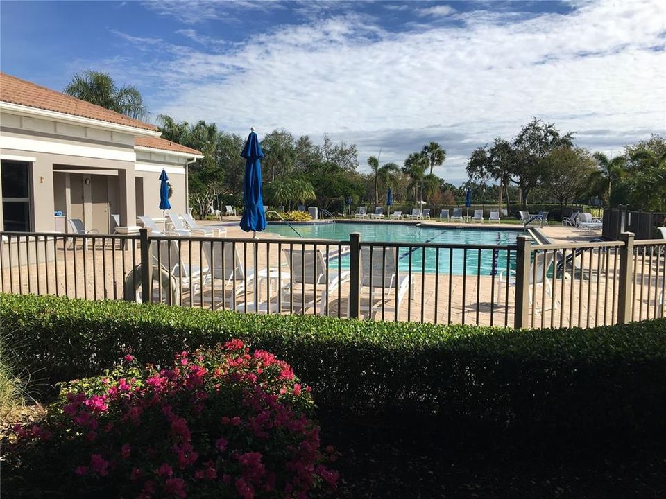
[(664, 134), (664, 9), (655, 0), (581, 3), (569, 15), (459, 12), (463, 27), (407, 33), (324, 15), (223, 53), (167, 48), (137, 72), (160, 88), (155, 114), (242, 133), (329, 132), (357, 143), (361, 164), (379, 148), (382, 161), (402, 163), (435, 140), (448, 150), (438, 173), (461, 182), (475, 147), (515, 136), (532, 116), (607, 152)]

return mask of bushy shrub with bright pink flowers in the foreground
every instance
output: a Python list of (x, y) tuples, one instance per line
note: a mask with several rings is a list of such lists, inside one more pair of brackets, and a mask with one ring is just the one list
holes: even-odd
[(179, 353), (171, 369), (124, 360), (63, 385), (43, 421), (15, 427), (15, 484), (139, 499), (305, 498), (335, 487), (310, 388), (286, 362), (241, 340)]

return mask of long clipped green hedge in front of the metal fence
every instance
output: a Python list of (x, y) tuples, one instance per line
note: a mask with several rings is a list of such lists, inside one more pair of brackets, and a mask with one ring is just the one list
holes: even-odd
[(97, 374), (127, 351), (166, 365), (174, 351), (242, 338), (289, 362), (327, 414), (527, 433), (666, 421), (664, 320), (514, 331), (0, 295), (0, 324), (52, 381)]

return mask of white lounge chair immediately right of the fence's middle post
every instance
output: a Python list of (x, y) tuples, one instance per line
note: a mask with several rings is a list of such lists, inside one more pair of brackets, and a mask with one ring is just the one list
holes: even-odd
[[(395, 308), (400, 310), (400, 305), (404, 295), (409, 290), (409, 274), (398, 277), (395, 268), (395, 256), (397, 250), (395, 247), (387, 247), (386, 254), (382, 248), (375, 248), (370, 257), (370, 247), (361, 247), (361, 311), (371, 311), (372, 313), (382, 313), (390, 319), (390, 313), (395, 314)], [(384, 258), (382, 259), (382, 255)], [(396, 279), (398, 281), (396, 282)], [(395, 292), (398, 288), (397, 293)], [(364, 305), (364, 288), (368, 288), (368, 305)], [(414, 281), (411, 282), (411, 298), (414, 294)], [(393, 295), (393, 306), (387, 306), (389, 297)]]

